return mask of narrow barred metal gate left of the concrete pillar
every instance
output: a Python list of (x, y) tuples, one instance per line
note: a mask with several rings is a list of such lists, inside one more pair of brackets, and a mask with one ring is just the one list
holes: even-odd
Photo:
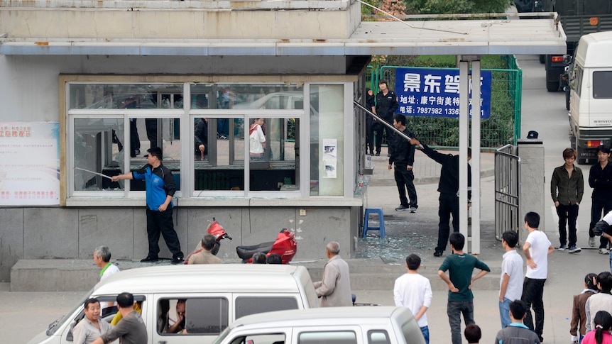
[(516, 146), (505, 145), (495, 152), (495, 238), (501, 240), (505, 231), (520, 233), (520, 157)]

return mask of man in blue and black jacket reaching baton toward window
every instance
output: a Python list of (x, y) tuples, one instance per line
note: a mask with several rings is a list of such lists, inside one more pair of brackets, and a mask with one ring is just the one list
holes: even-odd
[(154, 147), (147, 152), (147, 165), (134, 172), (116, 175), (113, 177), (113, 182), (119, 179), (145, 179), (149, 252), (141, 262), (157, 262), (159, 260), (159, 237), (161, 233), (168, 249), (172, 252), (172, 263), (180, 264), (184, 262), (184, 256), (180, 250), (180, 242), (174, 230), (172, 218), (174, 206), (172, 197), (176, 191), (174, 177), (168, 167), (162, 165), (161, 148)]

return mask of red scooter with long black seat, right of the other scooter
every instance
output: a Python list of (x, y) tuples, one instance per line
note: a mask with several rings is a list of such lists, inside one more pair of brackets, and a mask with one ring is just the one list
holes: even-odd
[(258, 245), (236, 247), (236, 253), (242, 258), (242, 262), (244, 263), (252, 263), (253, 254), (257, 252), (266, 253), (266, 257), (275, 253), (283, 258), (283, 264), (289, 264), (295, 253), (297, 253), (295, 233), (289, 231), (287, 228), (283, 228), (280, 233), (276, 235), (275, 241)]

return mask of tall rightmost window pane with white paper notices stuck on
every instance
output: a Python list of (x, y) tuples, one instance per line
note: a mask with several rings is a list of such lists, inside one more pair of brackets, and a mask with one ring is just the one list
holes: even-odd
[(343, 85), (310, 86), (310, 195), (344, 195)]

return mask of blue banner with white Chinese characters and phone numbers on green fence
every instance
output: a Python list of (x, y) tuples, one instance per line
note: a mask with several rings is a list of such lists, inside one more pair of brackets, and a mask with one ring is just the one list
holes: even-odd
[[(395, 94), (407, 116), (459, 117), (459, 70), (398, 68)], [(470, 80), (471, 95), (471, 80)], [(471, 97), (470, 97), (471, 116)], [(481, 71), (481, 118), (491, 116), (491, 71)]]

